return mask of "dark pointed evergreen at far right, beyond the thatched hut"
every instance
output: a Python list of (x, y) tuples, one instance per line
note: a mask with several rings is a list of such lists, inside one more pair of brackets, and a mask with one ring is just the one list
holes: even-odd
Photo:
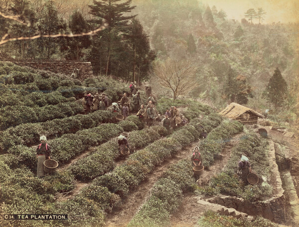
[(287, 91), (287, 82), (283, 78), (279, 68), (276, 68), (273, 76), (270, 78), (269, 83), (267, 84), (265, 95), (268, 100), (275, 105), (275, 107), (278, 107), (286, 98)]

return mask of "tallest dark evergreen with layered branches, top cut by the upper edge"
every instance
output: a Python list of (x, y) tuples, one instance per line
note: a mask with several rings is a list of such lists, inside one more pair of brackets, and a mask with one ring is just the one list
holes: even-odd
[[(115, 51), (116, 46), (121, 46), (117, 42), (121, 42), (120, 35), (128, 30), (128, 22), (133, 19), (136, 15), (124, 16), (124, 13), (131, 12), (136, 6), (131, 6), (132, 0), (127, 0), (122, 3), (118, 3), (122, 0), (94, 0), (93, 5), (89, 5), (89, 13), (94, 15), (91, 20), (96, 26), (102, 23), (105, 19), (108, 23), (108, 28), (102, 32), (101, 35), (101, 47), (103, 52), (103, 47), (106, 51), (102, 55), (106, 55), (106, 70), (105, 74), (111, 74), (111, 59), (117, 58), (117, 52)], [(104, 42), (104, 43), (103, 43)], [(93, 47), (97, 48), (97, 47)], [(103, 57), (102, 57), (103, 58)], [(104, 62), (101, 59), (101, 64)]]

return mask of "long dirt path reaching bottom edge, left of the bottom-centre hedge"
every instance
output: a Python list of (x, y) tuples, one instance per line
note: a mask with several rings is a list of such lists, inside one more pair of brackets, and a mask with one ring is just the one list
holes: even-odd
[(136, 215), (142, 205), (149, 197), (150, 190), (162, 173), (170, 164), (176, 163), (183, 158), (188, 158), (192, 154), (192, 149), (198, 145), (198, 141), (181, 150), (179, 154), (171, 158), (171, 160), (157, 166), (149, 177), (143, 181), (137, 189), (124, 199), (121, 207), (115, 209), (113, 213), (108, 214), (106, 219), (106, 226), (108, 227), (125, 227)]

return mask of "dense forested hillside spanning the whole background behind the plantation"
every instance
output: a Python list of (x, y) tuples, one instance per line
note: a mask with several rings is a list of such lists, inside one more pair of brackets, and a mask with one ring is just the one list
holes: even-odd
[[(93, 36), (7, 42), (0, 48), (4, 58), (91, 61), (96, 75), (150, 80), (159, 95), (200, 99), (218, 110), (229, 102), (270, 109), (277, 121), (298, 115), (298, 23), (263, 24), (266, 8), (260, 17), (249, 9), (236, 21), (200, 0), (5, 0), (0, 7), (23, 21), (0, 17), (0, 35), (8, 38), (78, 34), (108, 22)], [(179, 94), (157, 77), (172, 66), (192, 68), (185, 79), (192, 86), (181, 85)], [(271, 80), (274, 75), (280, 79)]]

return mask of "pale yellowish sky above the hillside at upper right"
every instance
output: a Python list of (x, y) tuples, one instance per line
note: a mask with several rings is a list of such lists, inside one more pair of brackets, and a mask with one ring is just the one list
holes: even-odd
[[(228, 19), (241, 21), (249, 8), (263, 8), (267, 14), (263, 23), (299, 22), (299, 0), (198, 0), (226, 12)], [(253, 21), (258, 23), (258, 20)]]

